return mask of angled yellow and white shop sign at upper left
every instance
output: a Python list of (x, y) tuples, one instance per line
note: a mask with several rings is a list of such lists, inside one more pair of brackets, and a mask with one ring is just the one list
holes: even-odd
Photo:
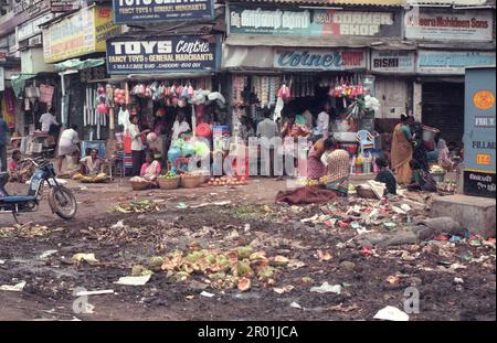
[(46, 63), (105, 52), (105, 41), (120, 33), (113, 23), (110, 7), (81, 9), (75, 14), (43, 29)]

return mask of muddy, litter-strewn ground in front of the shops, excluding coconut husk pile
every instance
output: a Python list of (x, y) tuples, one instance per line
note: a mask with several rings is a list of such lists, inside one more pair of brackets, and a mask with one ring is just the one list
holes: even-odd
[[(0, 320), (372, 320), (385, 306), (404, 309), (404, 290), (410, 286), (420, 296), (420, 313), (411, 313), (410, 320), (496, 319), (491, 246), (432, 240), (377, 249), (368, 256), (350, 240), (356, 229), (300, 222), (321, 213), (324, 206), (274, 204), (284, 184), (266, 179), (237, 189), (168, 192), (131, 192), (123, 181), (83, 187), (70, 182), (68, 186), (78, 201), (75, 219), (54, 218), (43, 202), (40, 212), (21, 221), (47, 229), (0, 229), (0, 285), (27, 282), (20, 292), (0, 290)], [(159, 201), (159, 211), (112, 212), (118, 203), (142, 199)], [(231, 203), (215, 204), (223, 201)], [(177, 208), (179, 203), (188, 208)], [(192, 208), (195, 205), (201, 207)], [(113, 229), (118, 221), (125, 227)], [(0, 215), (0, 228), (13, 224), (10, 216)], [(177, 282), (163, 272), (156, 272), (145, 286), (114, 283), (129, 276), (134, 265), (177, 248), (188, 250), (191, 242), (226, 250), (252, 245), (267, 256), (282, 255), (304, 266), (278, 267), (275, 285), (253, 280), (246, 292), (203, 289), (201, 276)], [(56, 253), (40, 257), (52, 249)], [(318, 250), (330, 258), (319, 260)], [(98, 261), (72, 261), (78, 253), (93, 253)], [(462, 258), (467, 253), (472, 260)], [(399, 282), (388, 282), (391, 276)], [(464, 283), (456, 285), (455, 278)], [(325, 281), (342, 285), (341, 293), (310, 292)], [(283, 294), (274, 291), (285, 286), (294, 289)], [(73, 296), (76, 288), (115, 293), (89, 296), (93, 313), (84, 314), (73, 310), (81, 301)], [(202, 291), (214, 297), (203, 297)]]

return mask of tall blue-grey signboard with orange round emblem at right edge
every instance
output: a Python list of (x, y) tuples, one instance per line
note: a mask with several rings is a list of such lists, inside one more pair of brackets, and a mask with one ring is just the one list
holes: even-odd
[(464, 190), (468, 195), (496, 195), (495, 82), (495, 66), (466, 69)]

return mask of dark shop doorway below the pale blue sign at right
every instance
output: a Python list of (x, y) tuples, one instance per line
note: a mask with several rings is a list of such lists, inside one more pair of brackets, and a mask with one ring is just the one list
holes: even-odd
[(464, 83), (423, 84), (422, 124), (437, 128), (447, 143), (461, 147), (464, 133)]

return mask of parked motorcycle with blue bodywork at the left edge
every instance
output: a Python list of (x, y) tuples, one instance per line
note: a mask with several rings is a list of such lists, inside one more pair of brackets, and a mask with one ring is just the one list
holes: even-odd
[(21, 163), (32, 163), (35, 167), (31, 178), (30, 187), (27, 195), (10, 195), (6, 190), (9, 181), (9, 173), (0, 173), (0, 214), (11, 213), (19, 224), (20, 213), (36, 212), (40, 201), (43, 197), (43, 189), (49, 186), (49, 205), (52, 213), (68, 221), (74, 218), (77, 212), (77, 204), (74, 194), (61, 185), (55, 178), (53, 164), (43, 157), (24, 159)]

